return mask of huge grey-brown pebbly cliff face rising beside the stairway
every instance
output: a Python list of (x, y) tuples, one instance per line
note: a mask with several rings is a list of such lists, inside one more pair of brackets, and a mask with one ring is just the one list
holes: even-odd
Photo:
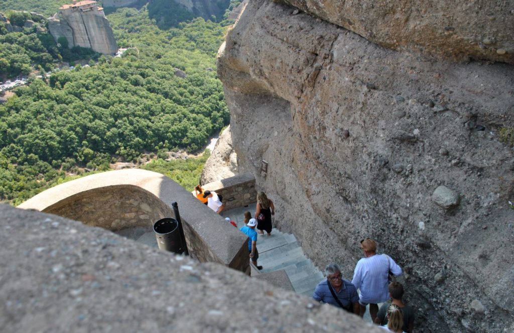
[[(511, 62), (511, 13), (491, 20), (486, 3), (467, 7), (475, 25), (505, 22), (486, 37), (506, 54), (473, 53), (457, 41), (474, 27), (430, 37), (407, 28), (416, 15), (401, 16), (423, 14), (417, 4), (389, 3), (399, 9), (381, 9), (376, 22), (375, 2), (359, 2), (369, 10), (355, 9), (350, 25), (321, 10), (349, 17), (341, 6), (350, 2), (296, 3), (310, 13), (249, 2), (218, 55), (238, 167), (255, 174), (277, 224), (320, 267), (339, 262), (351, 278), (360, 239), (375, 238), (406, 272), (416, 331), (514, 330), (514, 154), (500, 135), (514, 126), (514, 68), (451, 62)], [(440, 20), (460, 17), (460, 6), (439, 7)], [(388, 17), (407, 26), (392, 29)], [(437, 23), (431, 17), (425, 26)], [(355, 25), (369, 39), (344, 28)]]

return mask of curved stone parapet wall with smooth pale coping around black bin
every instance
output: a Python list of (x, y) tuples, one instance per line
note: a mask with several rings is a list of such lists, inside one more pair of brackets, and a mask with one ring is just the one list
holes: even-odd
[(152, 226), (160, 218), (174, 217), (174, 201), (178, 203), (192, 257), (249, 271), (248, 238), (157, 172), (129, 169), (93, 174), (52, 187), (19, 207), (118, 231)]

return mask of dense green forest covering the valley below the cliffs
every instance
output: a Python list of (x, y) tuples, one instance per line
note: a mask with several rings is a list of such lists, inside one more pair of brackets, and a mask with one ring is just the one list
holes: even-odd
[[(67, 1), (6, 8), (12, 3), (0, 4), (7, 17), (9, 9), (56, 12)], [(230, 22), (192, 18), (161, 29), (146, 6), (109, 12), (116, 41), (127, 48), (121, 57), (64, 49), (41, 29), (7, 32), (0, 23), (0, 64), (9, 62), (5, 54), (17, 46), (26, 55), (19, 57), (21, 75), (51, 72), (66, 60), (75, 65), (30, 77), (0, 105), (1, 201), (17, 205), (53, 185), (108, 170), (111, 163), (138, 164), (143, 155), (153, 160), (145, 169), (187, 189), (198, 182), (208, 152), (164, 160), (170, 151), (200, 152), (229, 124), (215, 56)], [(13, 75), (12, 68), (2, 68), (4, 79)]]

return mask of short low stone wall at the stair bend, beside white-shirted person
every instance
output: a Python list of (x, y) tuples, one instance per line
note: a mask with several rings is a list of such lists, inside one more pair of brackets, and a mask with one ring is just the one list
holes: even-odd
[(255, 177), (252, 173), (237, 174), (234, 177), (215, 181), (202, 186), (223, 196), (225, 209), (244, 207), (255, 202)]

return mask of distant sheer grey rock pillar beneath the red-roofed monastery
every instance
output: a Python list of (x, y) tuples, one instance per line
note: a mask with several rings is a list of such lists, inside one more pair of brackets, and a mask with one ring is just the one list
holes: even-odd
[(110, 55), (118, 50), (113, 29), (103, 11), (61, 10), (60, 15), (48, 20), (48, 29), (56, 41), (66, 37), (70, 48), (88, 47)]

